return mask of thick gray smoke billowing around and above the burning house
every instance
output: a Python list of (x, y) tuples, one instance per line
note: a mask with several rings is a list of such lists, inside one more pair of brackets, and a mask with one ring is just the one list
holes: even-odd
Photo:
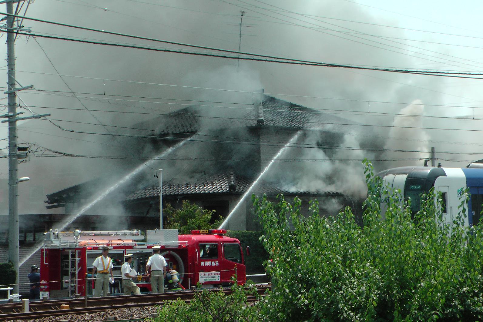
[[(413, 42), (397, 40), (400, 43), (395, 43), (395, 40), (391, 42), (366, 35), (368, 33), (381, 37), (402, 39), (412, 37), (423, 40), (429, 40), (428, 37), (430, 37), (401, 29), (369, 25), (373, 23), (406, 27), (405, 20), (397, 20), (400, 17), (396, 19), (387, 13), (374, 11), (355, 3), (335, 0), (303, 3), (288, 0), (273, 2), (274, 5), (286, 8), (290, 12), (313, 15), (309, 17), (282, 12), (281, 9), (258, 1), (249, 1), (250, 5), (244, 4), (243, 1), (233, 1), (232, 4), (227, 2), (180, 0), (169, 4), (161, 4), (157, 1), (147, 4), (129, 0), (90, 0), (74, 4), (68, 1), (47, 0), (32, 3), (27, 15), (90, 28), (238, 50), (239, 27), (237, 24), (240, 21), (240, 11), (243, 10), (246, 12), (243, 21), (247, 25), (243, 27), (241, 49), (246, 52), (365, 66), (414, 68), (425, 67), (428, 66), (427, 64), (434, 66), (432, 60), (438, 61), (438, 66), (445, 66), (445, 63), (456, 64), (447, 59), (455, 59), (460, 64), (468, 63), (468, 61), (461, 62), (460, 59), (448, 56), (443, 57), (437, 53), (429, 53), (424, 49), (408, 47), (408, 45), (414, 45)], [(270, 9), (270, 11), (266, 9)], [(346, 21), (314, 16), (338, 17)], [(364, 21), (369, 24), (355, 24), (347, 20)], [(174, 45), (60, 28), (32, 21), (24, 21), (24, 25), (31, 27), (34, 32), (174, 47)], [(363, 34), (354, 34), (354, 31), (341, 26), (356, 29)], [(58, 209), (45, 210), (42, 202), (45, 194), (99, 176), (107, 178), (105, 179), (107, 184), (129, 169), (135, 168), (140, 162), (135, 160), (137, 156), (150, 157), (150, 155), (158, 154), (159, 149), (162, 149), (153, 144), (152, 140), (142, 137), (100, 135), (118, 133), (145, 136), (161, 132), (162, 129), (155, 125), (152, 128), (144, 127), (143, 130), (119, 127), (107, 127), (106, 129), (99, 126), (99, 122), (104, 125), (135, 127), (133, 125), (153, 120), (159, 117), (159, 114), (177, 111), (196, 104), (207, 105), (199, 107), (204, 109), (205, 116), (240, 117), (244, 110), (237, 109), (236, 107), (240, 107), (240, 105), (232, 103), (241, 102), (249, 105), (252, 102), (252, 95), (242, 92), (264, 88), (266, 93), (276, 94), (274, 96), (278, 98), (320, 109), (321, 112), (337, 113), (337, 116), (348, 119), (350, 121), (348, 123), (375, 126), (351, 127), (345, 133), (346, 135), (337, 142), (337, 145), (354, 149), (335, 151), (304, 149), (298, 154), (299, 158), (327, 158), (332, 160), (331, 162), (293, 163), (293, 166), (286, 168), (290, 169), (288, 172), (293, 172), (288, 176), (272, 174), (272, 177), (281, 180), (287, 189), (335, 190), (351, 196), (363, 196), (365, 190), (360, 163), (341, 160), (363, 157), (381, 158), (381, 154), (370, 149), (429, 150), (430, 144), (433, 143), (428, 144), (425, 140), (451, 140), (450, 135), (441, 135), (434, 131), (418, 133), (412, 130), (405, 132), (399, 131), (397, 128), (389, 130), (387, 127), (377, 127), (390, 126), (393, 122), (421, 126), (429, 124), (428, 121), (421, 121), (417, 117), (411, 119), (397, 116), (394, 119), (391, 115), (381, 115), (377, 112), (422, 113), (424, 111), (421, 105), (410, 105), (401, 110), (401, 106), (404, 105), (392, 102), (409, 104), (418, 101), (424, 104), (427, 102), (448, 104), (474, 101), (478, 100), (480, 96), (472, 91), (450, 90), (445, 87), (448, 84), (441, 78), (429, 76), (250, 61), (241, 61), (240, 67), (237, 68), (236, 60), (223, 58), (159, 53), (41, 38), (37, 38), (37, 41), (48, 58), (33, 39), (25, 37), (17, 39), (15, 48), (17, 80), (23, 86), (33, 84), (40, 90), (59, 92), (25, 91), (19, 93), (19, 97), (30, 106), (32, 111), (36, 113), (50, 112), (52, 119), (63, 120), (53, 122), (65, 130), (59, 129), (48, 121), (28, 121), (20, 125), (19, 141), (36, 143), (39, 146), (68, 154), (102, 155), (114, 159), (47, 157), (48, 154), (54, 154), (49, 151), (44, 151), (43, 157), (31, 157), (27, 163), (23, 163), (19, 167), (20, 176), (31, 178), (28, 183), (20, 185), (19, 194), (30, 198), (29, 202), (19, 204), (20, 213), (60, 211)], [(376, 42), (387, 43), (403, 49), (387, 47)], [(384, 47), (387, 50), (378, 47)], [(5, 52), (4, 49), (4, 46), (0, 47), (0, 51)], [(449, 53), (446, 47), (445, 50), (440, 50), (437, 45), (432, 45), (431, 50), (438, 53)], [(436, 57), (424, 56), (424, 54)], [(466, 52), (463, 54), (465, 55), (462, 56), (466, 56)], [(60, 74), (80, 76), (65, 76), (64, 80), (74, 92), (84, 94), (76, 94), (78, 98), (72, 97), (70, 89), (56, 75), (57, 72), (50, 64), (49, 59)], [(235, 92), (201, 88), (226, 89)], [(183, 101), (176, 99), (183, 99)], [(199, 103), (189, 100), (223, 103)], [(87, 109), (92, 114), (86, 112)], [(431, 107), (426, 110), (426, 114), (441, 114), (437, 109), (437, 107)], [(115, 112), (97, 112), (95, 110)], [(360, 113), (355, 115), (354, 111)], [(27, 111), (24, 112), (29, 115)], [(456, 116), (458, 112), (452, 110), (443, 114)], [(200, 133), (213, 127), (213, 118), (210, 117), (202, 119)], [(431, 122), (432, 125), (448, 125), (446, 121)], [(4, 127), (2, 128), (4, 129)], [(244, 137), (246, 133), (230, 130), (218, 133), (218, 135)], [(423, 141), (407, 140), (410, 138)], [(304, 138), (307, 142), (315, 143), (319, 142), (319, 139), (311, 137), (311, 135)], [(455, 141), (455, 139), (452, 140)], [(443, 143), (438, 144), (436, 145), (437, 151), (449, 149)], [(450, 146), (450, 148), (455, 147), (458, 145)], [(207, 161), (207, 164), (199, 163), (199, 161), (191, 161), (190, 158), (203, 155), (213, 158), (216, 153), (209, 151), (209, 148), (210, 146), (206, 143), (187, 144), (182, 150), (173, 152), (171, 155), (172, 158), (183, 160), (162, 161), (152, 168), (165, 169), (167, 180), (175, 178), (183, 171), (186, 173), (181, 174), (181, 177), (196, 175), (190, 169), (209, 168), (209, 162)], [(236, 154), (243, 156), (250, 147), (237, 146), (235, 149)], [(35, 154), (41, 155), (42, 150), (42, 148), (38, 148)], [(398, 158), (401, 155), (407, 156), (401, 153), (384, 153), (386, 158)], [(421, 157), (425, 156), (421, 155)], [(376, 162), (375, 164), (382, 169), (403, 163)], [(0, 166), (6, 167), (6, 163), (1, 163)], [(152, 168), (146, 167), (145, 180), (133, 182), (131, 188), (155, 184), (156, 179), (152, 177), (154, 172)], [(3, 172), (6, 173), (6, 171)], [(43, 192), (40, 193), (40, 191)]]

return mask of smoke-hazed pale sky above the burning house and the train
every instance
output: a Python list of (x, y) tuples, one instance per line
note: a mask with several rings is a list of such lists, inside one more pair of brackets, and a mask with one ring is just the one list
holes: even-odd
[[(437, 5), (415, 0), (403, 5), (376, 0), (44, 0), (31, 3), (26, 15), (238, 51), (244, 11), (242, 52), (342, 65), (479, 73), (483, 69), (482, 6), (481, 1), (468, 0), (457, 4), (438, 1)], [(31, 20), (24, 20), (23, 26), (41, 35), (211, 52)], [(1, 37), (6, 39), (4, 33)], [(0, 43), (0, 52), (6, 53), (5, 43)], [(35, 143), (33, 148), (37, 149), (37, 156), (19, 165), (19, 176), (31, 178), (19, 186), (20, 194), (28, 195), (30, 205), (40, 201), (42, 211), (46, 194), (95, 178), (109, 168), (119, 167), (123, 172), (139, 164), (45, 156), (51, 152), (41, 156), (43, 148), (68, 154), (99, 156), (114, 151), (119, 157), (134, 155), (120, 139), (103, 134), (136, 133), (115, 126), (132, 126), (150, 119), (153, 113), (189, 106), (192, 100), (236, 99), (251, 104), (252, 92), (261, 88), (277, 98), (360, 124), (360, 131), (348, 133), (344, 144), (406, 151), (340, 151), (337, 155), (341, 159), (395, 160), (375, 161), (381, 170), (422, 165), (420, 159), (428, 156), (422, 151), (431, 147), (436, 149), (437, 162), (447, 167), (465, 167), (471, 160), (483, 158), (478, 154), (483, 144), (482, 120), (478, 119), (483, 118), (483, 92), (478, 79), (237, 62), (32, 36), (17, 38), (15, 55), (18, 83), (34, 86), (34, 90), (18, 94), (19, 103), (37, 114), (51, 113), (52, 122), (19, 123), (19, 142)], [(2, 84), (6, 84), (4, 65), (0, 66)], [(5, 102), (3, 99), (2, 104)], [(211, 108), (210, 104), (205, 108)], [(21, 109), (23, 116), (31, 115), (29, 110)], [(6, 126), (1, 124), (0, 140), (6, 137)], [(144, 143), (140, 140), (139, 144)], [(0, 141), (0, 148), (6, 145), (6, 140)], [(313, 155), (313, 151), (308, 154), (325, 157)], [(360, 174), (361, 163), (353, 164)], [(337, 164), (319, 162), (307, 167), (327, 172)], [(0, 176), (6, 178), (7, 174), (6, 159), (0, 159)], [(173, 175), (166, 173), (167, 178)], [(35, 209), (37, 206), (19, 207), (21, 213), (41, 211)]]

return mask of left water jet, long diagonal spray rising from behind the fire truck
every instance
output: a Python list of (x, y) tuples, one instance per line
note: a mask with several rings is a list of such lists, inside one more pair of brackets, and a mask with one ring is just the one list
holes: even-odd
[[(109, 195), (111, 192), (116, 190), (118, 187), (120, 187), (122, 184), (127, 182), (129, 179), (134, 177), (136, 174), (138, 174), (145, 166), (150, 166), (153, 164), (155, 161), (159, 161), (162, 157), (164, 157), (166, 154), (170, 154), (174, 150), (180, 148), (183, 146), (187, 141), (190, 139), (182, 140), (178, 144), (173, 145), (170, 147), (168, 150), (163, 151), (163, 153), (156, 155), (153, 159), (148, 160), (145, 163), (142, 163), (139, 167), (135, 168), (131, 172), (129, 172), (126, 176), (124, 176), (121, 180), (116, 182), (114, 185), (111, 187), (107, 188), (104, 192), (102, 192), (95, 200), (91, 201), (89, 204), (87, 204), (85, 207), (83, 207), (79, 212), (77, 212), (75, 215), (71, 215), (69, 218), (65, 220), (63, 224), (58, 229), (58, 231), (64, 230), (69, 224), (71, 224), (74, 220), (76, 220), (80, 215), (82, 215), (85, 211), (90, 209), (92, 206), (97, 204), (100, 200), (104, 199), (105, 196)], [(33, 252), (30, 252), (22, 261), (20, 261), (20, 265), (22, 266), (35, 252), (37, 252), (40, 248), (42, 247), (42, 244), (38, 245)]]

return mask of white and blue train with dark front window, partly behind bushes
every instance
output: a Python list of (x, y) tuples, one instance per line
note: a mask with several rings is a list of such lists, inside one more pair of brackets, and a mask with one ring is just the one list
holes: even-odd
[[(483, 163), (471, 163), (467, 168), (443, 167), (399, 167), (381, 171), (376, 176), (383, 179), (389, 191), (399, 189), (405, 200), (411, 198), (412, 213), (420, 210), (421, 195), (431, 188), (441, 192), (443, 221), (452, 223), (458, 215), (462, 194), (469, 188), (469, 200), (463, 205), (466, 213), (465, 226), (478, 224), (482, 220)], [(384, 218), (387, 200), (381, 200), (381, 215)]]

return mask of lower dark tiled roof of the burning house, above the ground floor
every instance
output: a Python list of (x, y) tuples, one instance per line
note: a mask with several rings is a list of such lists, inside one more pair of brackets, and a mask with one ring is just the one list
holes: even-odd
[[(231, 177), (231, 178), (230, 178)], [(231, 179), (231, 180), (230, 180)], [(234, 179), (234, 180), (233, 180)], [(233, 186), (230, 184), (233, 183)], [(163, 184), (163, 196), (177, 195), (198, 195), (198, 194), (243, 194), (252, 185), (252, 181), (242, 176), (234, 175), (233, 171), (228, 170), (222, 173), (201, 177), (193, 182), (184, 184), (167, 183)], [(268, 182), (260, 182), (257, 184), (255, 191), (263, 191), (266, 194), (284, 193), (287, 195), (313, 194), (308, 191), (289, 192), (280, 189), (274, 184)], [(324, 192), (325, 195), (340, 195), (339, 193)], [(159, 196), (159, 186), (149, 186), (138, 190), (126, 197), (126, 200), (136, 200), (143, 198), (152, 198)]]

